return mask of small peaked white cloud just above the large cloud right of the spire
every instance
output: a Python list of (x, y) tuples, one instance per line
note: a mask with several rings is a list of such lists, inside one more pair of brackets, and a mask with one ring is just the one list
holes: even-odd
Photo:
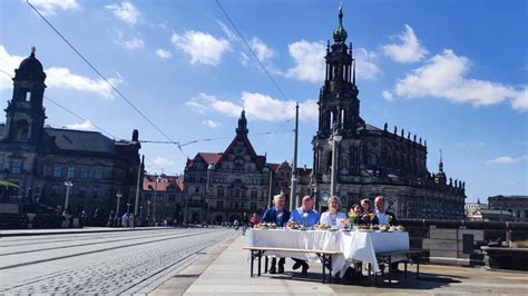
[(405, 31), (395, 38), (400, 39), (401, 43), (387, 45), (383, 47), (383, 51), (385, 56), (397, 62), (419, 61), (428, 53), (409, 24), (405, 24)]

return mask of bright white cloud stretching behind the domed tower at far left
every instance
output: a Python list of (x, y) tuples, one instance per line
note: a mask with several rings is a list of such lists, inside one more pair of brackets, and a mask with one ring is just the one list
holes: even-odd
[[(3, 46), (0, 45), (0, 69), (10, 76), (14, 76), (14, 69), (18, 69), (25, 57), (10, 55)], [(102, 79), (94, 80), (91, 78), (75, 75), (68, 68), (51, 67), (45, 70), (47, 75), (46, 85), (49, 88), (75, 89), (97, 93), (105, 98), (113, 98), (113, 90)], [(118, 75), (117, 78), (108, 79), (114, 86), (124, 82)], [(6, 73), (0, 73), (0, 91), (12, 89), (12, 80)]]

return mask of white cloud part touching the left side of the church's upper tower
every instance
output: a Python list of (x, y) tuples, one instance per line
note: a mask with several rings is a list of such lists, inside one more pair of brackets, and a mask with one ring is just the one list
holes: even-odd
[(295, 67), (285, 73), (287, 78), (306, 80), (313, 83), (322, 83), (324, 80), (324, 55), (325, 46), (320, 42), (301, 40), (289, 45), (290, 56), (295, 61)]

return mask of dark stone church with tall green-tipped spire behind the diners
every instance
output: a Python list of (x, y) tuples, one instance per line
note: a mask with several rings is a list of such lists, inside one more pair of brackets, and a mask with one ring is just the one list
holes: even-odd
[(441, 156), (438, 171), (431, 174), (426, 141), (397, 127), (389, 131), (387, 124), (377, 128), (361, 118), (355, 60), (342, 19), (340, 8), (334, 43), (329, 41), (326, 47), (326, 73), (317, 102), (312, 193), (327, 198), (335, 161), (335, 194), (343, 206), (383, 195), (399, 217), (462, 219), (465, 182), (448, 181)]

